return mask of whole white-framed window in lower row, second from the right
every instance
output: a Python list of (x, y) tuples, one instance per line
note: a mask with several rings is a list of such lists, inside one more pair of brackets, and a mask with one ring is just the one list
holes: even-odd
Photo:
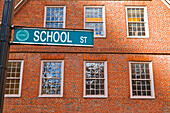
[(84, 61), (85, 98), (107, 98), (107, 61)]

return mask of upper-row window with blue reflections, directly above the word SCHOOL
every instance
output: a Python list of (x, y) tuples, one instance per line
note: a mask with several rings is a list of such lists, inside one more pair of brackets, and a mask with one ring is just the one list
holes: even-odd
[(66, 6), (45, 6), (44, 27), (65, 28)]

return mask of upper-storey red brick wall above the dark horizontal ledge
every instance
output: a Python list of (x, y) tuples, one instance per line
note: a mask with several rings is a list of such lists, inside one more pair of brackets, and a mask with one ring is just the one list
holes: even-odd
[[(84, 6), (105, 5), (106, 8), (106, 38), (95, 38), (93, 48), (75, 47), (34, 47), (34, 46), (12, 46), (11, 51), (29, 50), (41, 51), (52, 49), (52, 51), (88, 51), (88, 52), (135, 52), (135, 53), (170, 53), (170, 11), (161, 1), (45, 1), (29, 0), (22, 9), (14, 16), (14, 25), (43, 27), (44, 7), (48, 5), (65, 5), (66, 28), (83, 29)], [(126, 5), (147, 6), (149, 37), (147, 39), (128, 39), (126, 33)], [(38, 22), (37, 22), (38, 21)], [(29, 49), (34, 47), (35, 49)], [(43, 48), (43, 49), (42, 49)]]

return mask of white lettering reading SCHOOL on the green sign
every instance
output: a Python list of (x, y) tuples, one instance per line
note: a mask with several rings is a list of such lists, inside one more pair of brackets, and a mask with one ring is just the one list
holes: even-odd
[(33, 40), (35, 42), (41, 41), (41, 42), (68, 42), (68, 43), (72, 43), (72, 40), (70, 40), (70, 34), (69, 32), (61, 32), (61, 34), (56, 31), (56, 32), (49, 32), (49, 31), (35, 31), (34, 32), (34, 38)]

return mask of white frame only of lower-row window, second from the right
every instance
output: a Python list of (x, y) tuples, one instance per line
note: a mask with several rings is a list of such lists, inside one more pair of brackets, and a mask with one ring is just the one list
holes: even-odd
[[(104, 95), (86, 95), (86, 63), (104, 63)], [(107, 61), (84, 61), (84, 85), (83, 85), (83, 97), (84, 98), (107, 98), (108, 97), (108, 83), (107, 83)]]

